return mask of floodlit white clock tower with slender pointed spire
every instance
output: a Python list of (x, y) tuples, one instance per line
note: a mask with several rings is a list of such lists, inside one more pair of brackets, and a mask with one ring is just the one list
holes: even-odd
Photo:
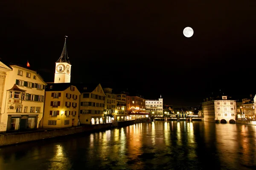
[(67, 57), (66, 38), (67, 36), (65, 36), (65, 43), (61, 57), (58, 59), (55, 65), (54, 83), (70, 82), (71, 64), (69, 58)]

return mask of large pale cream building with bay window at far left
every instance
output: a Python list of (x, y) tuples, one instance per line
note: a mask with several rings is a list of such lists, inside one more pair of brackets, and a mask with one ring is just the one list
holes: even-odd
[(43, 116), (44, 90), (47, 85), (36, 71), (23, 65), (6, 66), (3, 86), (0, 131), (39, 127)]

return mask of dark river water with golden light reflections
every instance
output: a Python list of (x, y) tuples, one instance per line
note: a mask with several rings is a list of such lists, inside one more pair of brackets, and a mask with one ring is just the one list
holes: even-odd
[(0, 148), (0, 170), (256, 170), (256, 126), (137, 123)]

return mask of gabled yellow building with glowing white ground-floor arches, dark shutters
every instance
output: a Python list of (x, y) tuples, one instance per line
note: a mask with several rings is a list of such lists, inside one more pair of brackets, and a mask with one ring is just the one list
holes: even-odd
[(80, 96), (80, 114), (81, 124), (100, 124), (109, 116), (104, 114), (105, 93), (100, 84), (78, 84)]

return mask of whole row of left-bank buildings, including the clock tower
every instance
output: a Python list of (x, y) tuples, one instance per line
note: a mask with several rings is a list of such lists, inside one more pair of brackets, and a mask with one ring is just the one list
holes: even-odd
[(100, 83), (70, 83), (66, 39), (55, 63), (54, 82), (29, 66), (0, 62), (0, 132), (100, 124), (148, 116), (145, 99), (113, 94)]

